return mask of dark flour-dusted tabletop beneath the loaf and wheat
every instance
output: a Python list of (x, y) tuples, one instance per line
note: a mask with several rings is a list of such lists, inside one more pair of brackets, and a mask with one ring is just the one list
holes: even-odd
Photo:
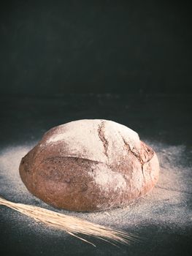
[[(17, 212), (0, 206), (0, 255), (192, 255), (191, 101), (190, 95), (1, 97), (0, 195), (8, 200), (49, 208), (32, 196), (27, 200), (17, 184), (7, 184), (14, 178), (9, 172), (14, 161), (20, 161), (15, 159), (20, 156), (18, 152), (34, 145), (47, 129), (82, 118), (109, 119), (134, 129), (157, 151), (161, 173), (154, 192), (148, 196), (155, 198), (150, 201), (150, 208), (142, 209), (147, 207), (147, 199), (138, 200), (130, 212), (124, 210), (128, 224), (117, 226), (137, 233), (141, 241), (118, 248), (90, 238), (96, 244), (93, 247), (61, 231), (43, 225), (39, 229), (39, 224), (28, 217), (21, 218)], [(170, 177), (174, 177), (175, 182)], [(175, 194), (171, 196), (169, 192)], [(140, 216), (138, 209), (142, 209)], [(141, 222), (137, 218), (142, 219)], [(102, 224), (116, 227), (110, 220)]]

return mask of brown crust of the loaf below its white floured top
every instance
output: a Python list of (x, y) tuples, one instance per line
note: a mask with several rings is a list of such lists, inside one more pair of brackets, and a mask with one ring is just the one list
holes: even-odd
[[(100, 126), (101, 128), (101, 126)], [(158, 179), (158, 159), (142, 141), (134, 151), (123, 141), (122, 156), (111, 162), (66, 156), (65, 141), (45, 143), (51, 129), (20, 162), (20, 177), (28, 190), (57, 208), (100, 211), (126, 206), (153, 188)], [(99, 130), (107, 151), (107, 139)], [(87, 136), (87, 135), (86, 135)], [(107, 146), (106, 146), (107, 145)], [(123, 151), (124, 150), (124, 151)]]

